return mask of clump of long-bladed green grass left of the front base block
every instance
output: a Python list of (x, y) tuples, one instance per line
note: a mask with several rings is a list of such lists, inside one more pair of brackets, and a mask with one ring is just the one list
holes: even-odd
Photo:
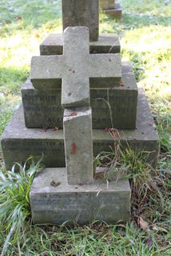
[(18, 242), (19, 245), (26, 219), (31, 214), (30, 187), (40, 168), (41, 160), (34, 164), (32, 159), (28, 170), (26, 165), (30, 158), (24, 166), (16, 163), (11, 171), (0, 171), (0, 222), (7, 233), (1, 255), (5, 255), (9, 242)]

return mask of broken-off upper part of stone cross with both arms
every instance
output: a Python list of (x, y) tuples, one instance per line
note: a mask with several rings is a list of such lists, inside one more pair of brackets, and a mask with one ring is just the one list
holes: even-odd
[(62, 106), (89, 106), (89, 85), (113, 87), (121, 80), (120, 54), (89, 54), (89, 29), (68, 27), (63, 55), (38, 56), (31, 60), (30, 79), (39, 90), (60, 89)]

